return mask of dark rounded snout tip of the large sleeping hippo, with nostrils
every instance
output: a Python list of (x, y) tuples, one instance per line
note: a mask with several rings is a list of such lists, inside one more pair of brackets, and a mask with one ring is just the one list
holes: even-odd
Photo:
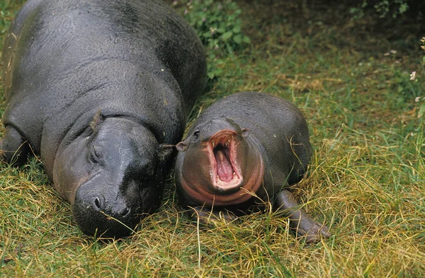
[(137, 195), (113, 194), (117, 190), (98, 188), (100, 186), (88, 184), (81, 185), (77, 190), (73, 204), (77, 224), (91, 236), (129, 236), (140, 221), (140, 198)]

